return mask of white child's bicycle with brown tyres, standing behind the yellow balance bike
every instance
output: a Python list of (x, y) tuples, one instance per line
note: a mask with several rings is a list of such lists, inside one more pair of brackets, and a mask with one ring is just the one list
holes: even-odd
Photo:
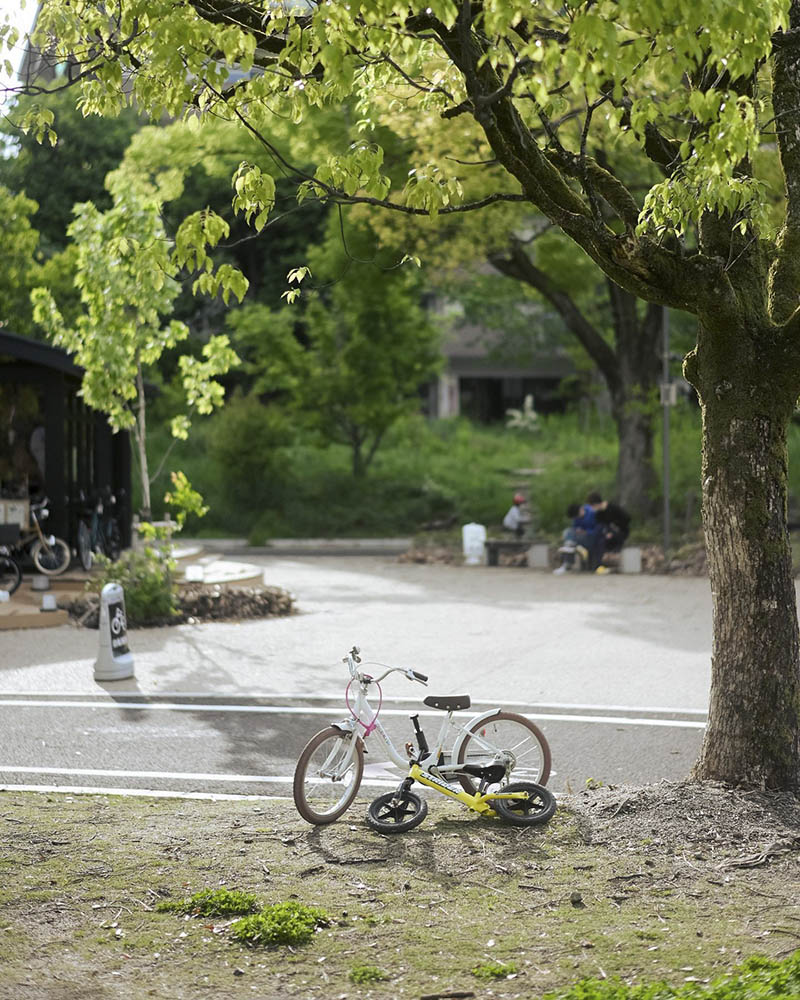
[[(428, 678), (406, 667), (387, 667), (380, 677), (373, 677), (359, 669), (359, 653), (354, 646), (342, 661), (350, 672), (345, 691), (349, 715), (312, 736), (297, 761), (294, 802), (304, 820), (317, 825), (332, 823), (349, 808), (364, 774), (364, 744), (373, 734), (380, 737), (394, 764), (405, 770), (414, 766), (427, 779), (424, 784), (439, 790), (457, 781), (468, 796), (485, 798), (489, 793), (496, 797), (491, 793), (509, 785), (512, 772), (515, 785), (547, 783), (550, 747), (539, 727), (523, 715), (500, 708), (482, 712), (462, 725), (453, 714), (470, 707), (469, 695), (425, 698), (423, 703), (429, 708), (446, 713), (436, 743), (428, 746), (419, 717), (412, 715), (418, 749), (406, 743), (405, 754), (398, 752), (378, 720), (383, 700), (380, 682), (392, 673), (404, 674), (420, 684), (427, 684)], [(364, 664), (370, 665), (386, 666)], [(377, 709), (369, 703), (373, 689), (378, 694)], [(451, 733), (455, 739), (446, 750)], [(416, 780), (420, 780), (418, 776)], [(466, 798), (462, 801), (470, 804)]]

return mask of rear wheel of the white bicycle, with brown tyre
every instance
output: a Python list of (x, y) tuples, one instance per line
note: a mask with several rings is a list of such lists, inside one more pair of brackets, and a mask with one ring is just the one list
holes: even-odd
[[(481, 746), (489, 744), (488, 747)], [(474, 744), (473, 746), (470, 746)], [(546, 785), (552, 762), (550, 746), (539, 727), (516, 712), (498, 712), (488, 719), (473, 724), (469, 735), (461, 744), (456, 763), (491, 764), (496, 754), (510, 752), (514, 757), (511, 770), (520, 781)], [(471, 775), (460, 774), (458, 780), (465, 792), (474, 795), (479, 781)], [(500, 782), (500, 785), (505, 782)], [(499, 786), (498, 786), (499, 787)]]

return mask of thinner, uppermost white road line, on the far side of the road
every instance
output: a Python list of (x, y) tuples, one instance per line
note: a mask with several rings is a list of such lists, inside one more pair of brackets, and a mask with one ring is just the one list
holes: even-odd
[[(309, 698), (313, 698), (314, 701), (324, 701), (333, 705), (340, 705), (342, 703), (341, 692), (334, 694), (309, 694), (308, 691), (299, 691), (296, 693), (284, 693), (277, 694), (275, 691), (231, 691), (228, 694), (214, 693), (211, 691), (150, 691), (150, 692), (120, 692), (121, 694), (129, 694), (131, 697), (136, 694), (138, 697), (142, 698), (205, 698), (207, 701), (212, 702), (214, 699), (234, 699), (234, 698), (246, 698), (248, 701), (269, 701), (270, 698), (280, 698), (281, 701), (299, 701), (303, 702)], [(11, 697), (12, 692), (0, 691), (0, 705), (13, 705), (17, 703), (20, 698), (31, 698), (35, 699), (37, 695), (41, 695), (38, 691), (18, 691), (14, 693), (14, 698)], [(85, 695), (75, 695), (72, 691), (49, 691), (49, 696), (51, 698), (73, 698), (73, 697), (85, 697)], [(114, 703), (114, 698), (108, 695), (96, 695), (98, 699), (97, 704), (104, 704), (108, 702), (109, 704)], [(384, 705), (390, 705), (392, 703), (404, 703), (415, 702), (414, 698), (384, 698)], [(475, 708), (485, 707), (490, 708), (497, 704), (494, 701), (487, 701), (485, 698), (475, 698), (473, 699), (472, 706)], [(531, 701), (508, 701), (503, 699), (504, 708), (527, 708), (531, 712), (541, 710), (554, 710), (554, 711), (565, 711), (565, 712), (630, 712), (636, 713), (637, 715), (641, 713), (648, 713), (651, 715), (702, 715), (708, 714), (708, 710), (705, 708), (664, 708), (662, 706), (651, 707), (649, 705), (584, 705), (575, 704), (572, 702), (531, 702)], [(335, 709), (333, 710), (335, 712)]]

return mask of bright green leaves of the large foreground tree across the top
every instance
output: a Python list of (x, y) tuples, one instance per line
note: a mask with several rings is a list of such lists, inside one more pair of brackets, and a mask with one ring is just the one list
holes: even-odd
[[(759, 182), (740, 167), (757, 149), (768, 95), (745, 91), (740, 81), (770, 54), (775, 32), (788, 25), (788, 6), (569, 0), (532, 8), (528, 0), (485, 0), (471, 7), (467, 37), (452, 0), (411, 8), (393, 0), (252, 2), (235, 11), (214, 2), (128, 0), (111, 16), (101, 3), (50, 0), (36, 38), (85, 71), (86, 114), (116, 114), (131, 100), (154, 118), (221, 116), (271, 147), (277, 119), (299, 123), (311, 107), (353, 98), (358, 117), (346, 148), (320, 156), (313, 174), (298, 178), (300, 197), (394, 197), (407, 211), (429, 214), (460, 201), (458, 165), (416, 163), (397, 190), (372, 133), (387, 115), (444, 113), (453, 124), (461, 111), (491, 131), (489, 119), (502, 109), (476, 84), (494, 78), (542, 147), (554, 122), (589, 109), (582, 128), (559, 133), (568, 157), (581, 152), (595, 123), (642, 148), (655, 130), (670, 151), (669, 176), (652, 185), (641, 213), (633, 204), (618, 208), (628, 222), (634, 212), (640, 233), (680, 234), (704, 210), (759, 215)], [(24, 125), (44, 134), (52, 120), (32, 109)], [(505, 153), (509, 163), (535, 158), (531, 149)], [(538, 174), (529, 193), (564, 202), (557, 178)], [(524, 187), (522, 172), (516, 176)], [(244, 161), (235, 191), (237, 209), (262, 226), (273, 197), (269, 177)], [(498, 200), (507, 196), (497, 192)], [(587, 213), (577, 196), (573, 207)]]

